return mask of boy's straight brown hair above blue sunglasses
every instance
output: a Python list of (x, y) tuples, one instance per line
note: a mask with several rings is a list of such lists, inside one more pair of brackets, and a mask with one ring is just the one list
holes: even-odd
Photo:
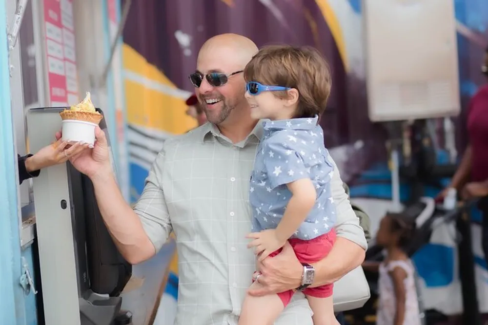
[[(312, 47), (265, 46), (244, 69), (246, 81), (298, 90), (298, 106), (293, 117), (321, 115), (330, 95), (331, 76), (325, 58)], [(286, 92), (273, 92), (280, 98)]]

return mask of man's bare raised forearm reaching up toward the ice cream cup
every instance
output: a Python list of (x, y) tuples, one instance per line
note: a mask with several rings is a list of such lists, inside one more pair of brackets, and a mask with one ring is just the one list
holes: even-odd
[(131, 264), (152, 257), (156, 250), (137, 214), (125, 202), (112, 172), (92, 179), (98, 207), (122, 256)]

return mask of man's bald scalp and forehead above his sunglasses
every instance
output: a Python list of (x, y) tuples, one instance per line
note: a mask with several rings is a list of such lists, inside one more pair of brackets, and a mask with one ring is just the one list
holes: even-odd
[(251, 60), (251, 58), (258, 52), (258, 47), (252, 40), (238, 34), (221, 34), (209, 38), (203, 43), (200, 52), (198, 53), (198, 62), (207, 56), (216, 56), (220, 54), (227, 58), (232, 57), (235, 65), (242, 66)]

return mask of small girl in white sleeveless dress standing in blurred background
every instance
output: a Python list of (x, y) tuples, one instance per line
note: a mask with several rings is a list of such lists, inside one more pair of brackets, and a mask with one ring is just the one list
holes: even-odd
[(385, 249), (385, 260), (364, 263), (365, 269), (379, 271), (377, 325), (420, 325), (415, 268), (403, 249), (414, 230), (415, 225), (402, 214), (387, 213), (376, 234), (376, 243)]

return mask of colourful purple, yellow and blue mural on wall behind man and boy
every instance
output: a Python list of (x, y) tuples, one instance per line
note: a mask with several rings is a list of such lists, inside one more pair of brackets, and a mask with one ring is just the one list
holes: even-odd
[[(470, 96), (485, 82), (480, 65), (488, 44), (488, 1), (454, 2), (461, 93), (466, 107)], [(391, 200), (391, 187), (386, 130), (370, 123), (367, 116), (360, 3), (361, 0), (132, 1), (122, 46), (131, 201), (135, 202), (141, 194), (163, 141), (196, 126), (185, 115), (184, 100), (193, 91), (187, 76), (195, 69), (200, 46), (214, 35), (237, 33), (251, 38), (258, 46), (311, 45), (328, 59), (333, 88), (321, 121), (325, 144), (331, 148), (343, 180), (351, 187), (351, 197), (365, 205), (375, 228)], [(461, 150), (465, 142), (464, 113), (455, 119), (455, 124)], [(439, 157), (443, 156), (439, 153)], [(439, 188), (431, 187), (426, 194), (435, 195), (438, 191)], [(402, 184), (401, 194), (402, 199), (408, 198), (407, 185)], [(480, 261), (477, 276), (482, 285), (488, 286), (476, 222), (479, 220), (473, 224), (475, 253)], [(459, 312), (461, 306), (446, 297), (459, 295), (459, 281), (453, 272), (454, 244), (445, 233), (434, 236), (431, 245), (418, 253), (416, 262), (429, 297), (427, 303), (453, 313)], [(425, 256), (432, 256), (433, 252), (437, 252), (439, 260), (426, 266)], [(170, 267), (168, 280), (162, 286), (164, 294), (158, 300), (161, 308), (154, 320), (157, 325), (172, 324), (176, 308), (177, 257), (173, 256), (169, 263), (167, 256), (172, 254), (165, 256)], [(432, 274), (438, 276), (432, 280)], [(483, 291), (488, 292), (488, 287)], [(488, 311), (488, 295), (480, 301), (482, 309)], [(448, 307), (452, 304), (454, 309)]]

